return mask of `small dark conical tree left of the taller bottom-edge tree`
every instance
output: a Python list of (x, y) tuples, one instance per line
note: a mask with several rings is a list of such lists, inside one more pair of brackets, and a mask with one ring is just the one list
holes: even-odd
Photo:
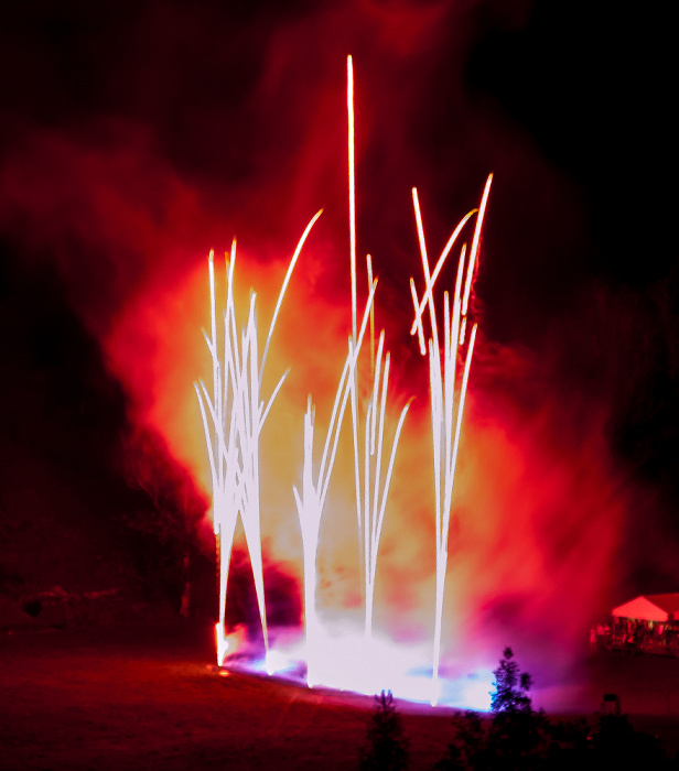
[(408, 738), (390, 691), (382, 691), (367, 729), (367, 741), (360, 754), (364, 771), (400, 771), (408, 768)]

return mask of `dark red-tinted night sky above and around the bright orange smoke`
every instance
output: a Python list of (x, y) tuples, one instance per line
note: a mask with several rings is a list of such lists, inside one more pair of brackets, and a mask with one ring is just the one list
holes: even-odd
[[(471, 388), (514, 415), (549, 402), (574, 425), (601, 421), (646, 501), (603, 599), (677, 590), (675, 31), (668, 3), (3, 2), (4, 584), (28, 549), (10, 544), (32, 515), (29, 469), (57, 521), (96, 507), (88, 528), (118, 533), (125, 509), (146, 544), (191, 537), (205, 496), (146, 420), (149, 391), (120, 376), (121, 319), (234, 234), (266, 272), (320, 207), (317, 245), (344, 253), (352, 53), (359, 251), (374, 254), (395, 348), (410, 345), (419, 276), (410, 188), (442, 245), (494, 172)], [(346, 273), (328, 259), (319, 294), (346, 301)], [(421, 390), (409, 356), (399, 382)]]

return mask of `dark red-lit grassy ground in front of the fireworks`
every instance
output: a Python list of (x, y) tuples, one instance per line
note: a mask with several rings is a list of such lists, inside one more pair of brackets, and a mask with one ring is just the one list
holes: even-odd
[[(212, 630), (177, 622), (1, 637), (0, 768), (357, 767), (370, 698), (223, 676), (213, 661)], [(617, 693), (635, 728), (679, 750), (679, 660), (605, 653), (588, 674), (592, 713), (600, 694)], [(402, 718), (411, 767), (431, 768), (450, 713)]]

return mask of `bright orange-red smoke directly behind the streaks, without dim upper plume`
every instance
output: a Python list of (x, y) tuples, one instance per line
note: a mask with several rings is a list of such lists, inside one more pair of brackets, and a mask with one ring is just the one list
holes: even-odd
[[(262, 433), (262, 534), (270, 556), (287, 563), (298, 577), (301, 539), (292, 485), (301, 478), (305, 397), (311, 392), (317, 405), (316, 431), (323, 437), (348, 326), (347, 307), (314, 293), (314, 276), (323, 270), (317, 253), (327, 253), (317, 240), (311, 238), (305, 248), (276, 332), (269, 390), (287, 366), (292, 370)], [(247, 276), (237, 282), (241, 313), (248, 284), (261, 286), (260, 325), (266, 329), (285, 263), (269, 263), (265, 273), (252, 261), (247, 264), (244, 251), (237, 258), (237, 276)], [(152, 340), (134, 391), (147, 394), (147, 420), (206, 491), (206, 452), (188, 374), (208, 376), (198, 334), (200, 325), (207, 324), (207, 302), (204, 263), (181, 284), (140, 297), (121, 318), (109, 347), (117, 371), (131, 383), (140, 361), (138, 348), (129, 349), (125, 341), (140, 334)], [(411, 345), (414, 349), (414, 339)], [(444, 625), (451, 653), (473, 652), (493, 661), (503, 644), (514, 641), (529, 647), (537, 660), (542, 650), (568, 662), (573, 651), (583, 649), (589, 626), (606, 611), (624, 573), (621, 533), (635, 493), (613, 466), (607, 411), (599, 400), (564, 389), (556, 360), (479, 343), (453, 498)], [(419, 355), (414, 362), (411, 370), (425, 366)], [(421, 372), (409, 379), (401, 371), (398, 381), (390, 397), (392, 417), (411, 395), (409, 382), (420, 393), (397, 457), (376, 613), (397, 636), (427, 638), (434, 564), (429, 412)], [(360, 604), (347, 426), (343, 450), (319, 553), (319, 600), (328, 616)]]

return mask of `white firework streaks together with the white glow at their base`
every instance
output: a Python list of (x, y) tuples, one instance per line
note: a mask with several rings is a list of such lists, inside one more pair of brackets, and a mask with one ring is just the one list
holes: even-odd
[[(347, 58), (347, 111), (348, 111), (348, 209), (349, 249), (352, 281), (352, 332), (348, 338), (348, 352), (337, 384), (332, 415), (323, 446), (322, 458), (315, 475), (314, 455), (314, 408), (309, 397), (303, 424), (303, 473), (301, 492), (293, 487), (303, 547), (304, 584), (304, 639), (303, 650), (291, 647), (271, 647), (267, 626), (267, 610), (263, 585), (261, 549), (261, 525), (259, 506), (259, 436), (276, 397), (283, 386), (283, 374), (268, 401), (261, 399), (267, 355), (272, 340), (276, 321), (300, 258), (306, 238), (317, 218), (319, 211), (304, 230), (285, 273), (276, 310), (269, 326), (261, 359), (258, 352), (258, 328), (256, 294), (250, 293), (247, 323), (239, 325), (234, 302), (234, 274), (236, 243), (231, 247), (226, 263), (226, 310), (222, 340), (217, 329), (214, 253), (209, 256), (211, 332), (204, 333), (213, 367), (213, 388), (209, 392), (201, 381), (195, 386), (203, 427), (209, 457), (213, 488), (213, 521), (217, 540), (217, 563), (219, 571), (219, 620), (216, 625), (217, 661), (223, 665), (231, 652), (242, 651), (242, 645), (234, 651), (234, 634), (226, 630), (227, 576), (233, 551), (238, 515), (240, 515), (247, 549), (255, 578), (255, 588), (261, 629), (263, 634), (263, 666), (269, 674), (295, 667), (294, 661), (302, 660), (306, 667), (306, 682), (310, 686), (323, 684), (332, 687), (349, 688), (363, 693), (374, 693), (389, 688), (397, 695), (416, 701), (441, 698), (454, 701), (461, 706), (485, 708), (487, 706), (489, 682), (483, 678), (479, 688), (472, 686), (464, 695), (452, 695), (450, 687), (443, 689), (441, 674), (441, 629), (443, 596), (448, 567), (448, 540), (451, 522), (452, 493), (455, 467), (460, 447), (460, 435), (466, 387), (476, 337), (476, 324), (466, 334), (470, 312), (470, 295), (481, 242), (483, 217), (491, 189), (492, 176), (486, 183), (479, 208), (467, 214), (446, 242), (432, 272), (429, 265), (422, 216), (417, 189), (412, 189), (414, 216), (424, 275), (424, 292), (420, 300), (414, 281), (410, 280), (414, 308), (411, 335), (417, 333), (420, 352), (428, 355), (431, 399), (433, 475), (434, 475), (434, 519), (436, 532), (435, 547), (435, 619), (433, 660), (431, 669), (425, 664), (423, 650), (414, 647), (402, 648), (374, 633), (374, 595), (377, 577), (377, 562), (382, 523), (387, 510), (389, 487), (394, 474), (398, 443), (410, 406), (410, 401), (401, 409), (391, 434), (391, 448), (386, 454), (385, 430), (390, 423), (387, 413), (387, 394), (390, 371), (390, 354), (385, 352), (385, 332), (379, 335), (375, 347), (374, 303), (377, 281), (373, 278), (370, 256), (366, 258), (368, 297), (358, 324), (357, 270), (356, 270), (356, 206), (354, 178), (354, 105), (353, 105), (353, 62)], [(472, 247), (466, 254), (462, 247), (452, 312), (449, 293), (443, 294), (443, 348), (439, 338), (439, 321), (434, 301), (434, 282), (443, 263), (470, 218), (476, 215)], [(466, 269), (466, 270), (465, 270)], [(430, 337), (425, 340), (423, 314), (429, 313)], [(370, 377), (367, 389), (359, 388), (360, 351), (369, 321)], [(457, 360), (462, 362), (462, 376), (456, 373)], [(360, 380), (363, 382), (363, 379)], [(360, 568), (364, 578), (363, 601), (365, 621), (363, 633), (355, 630), (325, 627), (316, 609), (316, 560), (319, 533), (323, 509), (328, 491), (330, 479), (336, 459), (340, 434), (347, 404), (352, 414), (353, 460), (356, 493), (356, 522), (362, 550)], [(388, 459), (387, 459), (388, 455)], [(425, 674), (430, 672), (431, 676)], [(424, 674), (423, 674), (424, 673)], [(485, 689), (484, 689), (485, 688)]]

